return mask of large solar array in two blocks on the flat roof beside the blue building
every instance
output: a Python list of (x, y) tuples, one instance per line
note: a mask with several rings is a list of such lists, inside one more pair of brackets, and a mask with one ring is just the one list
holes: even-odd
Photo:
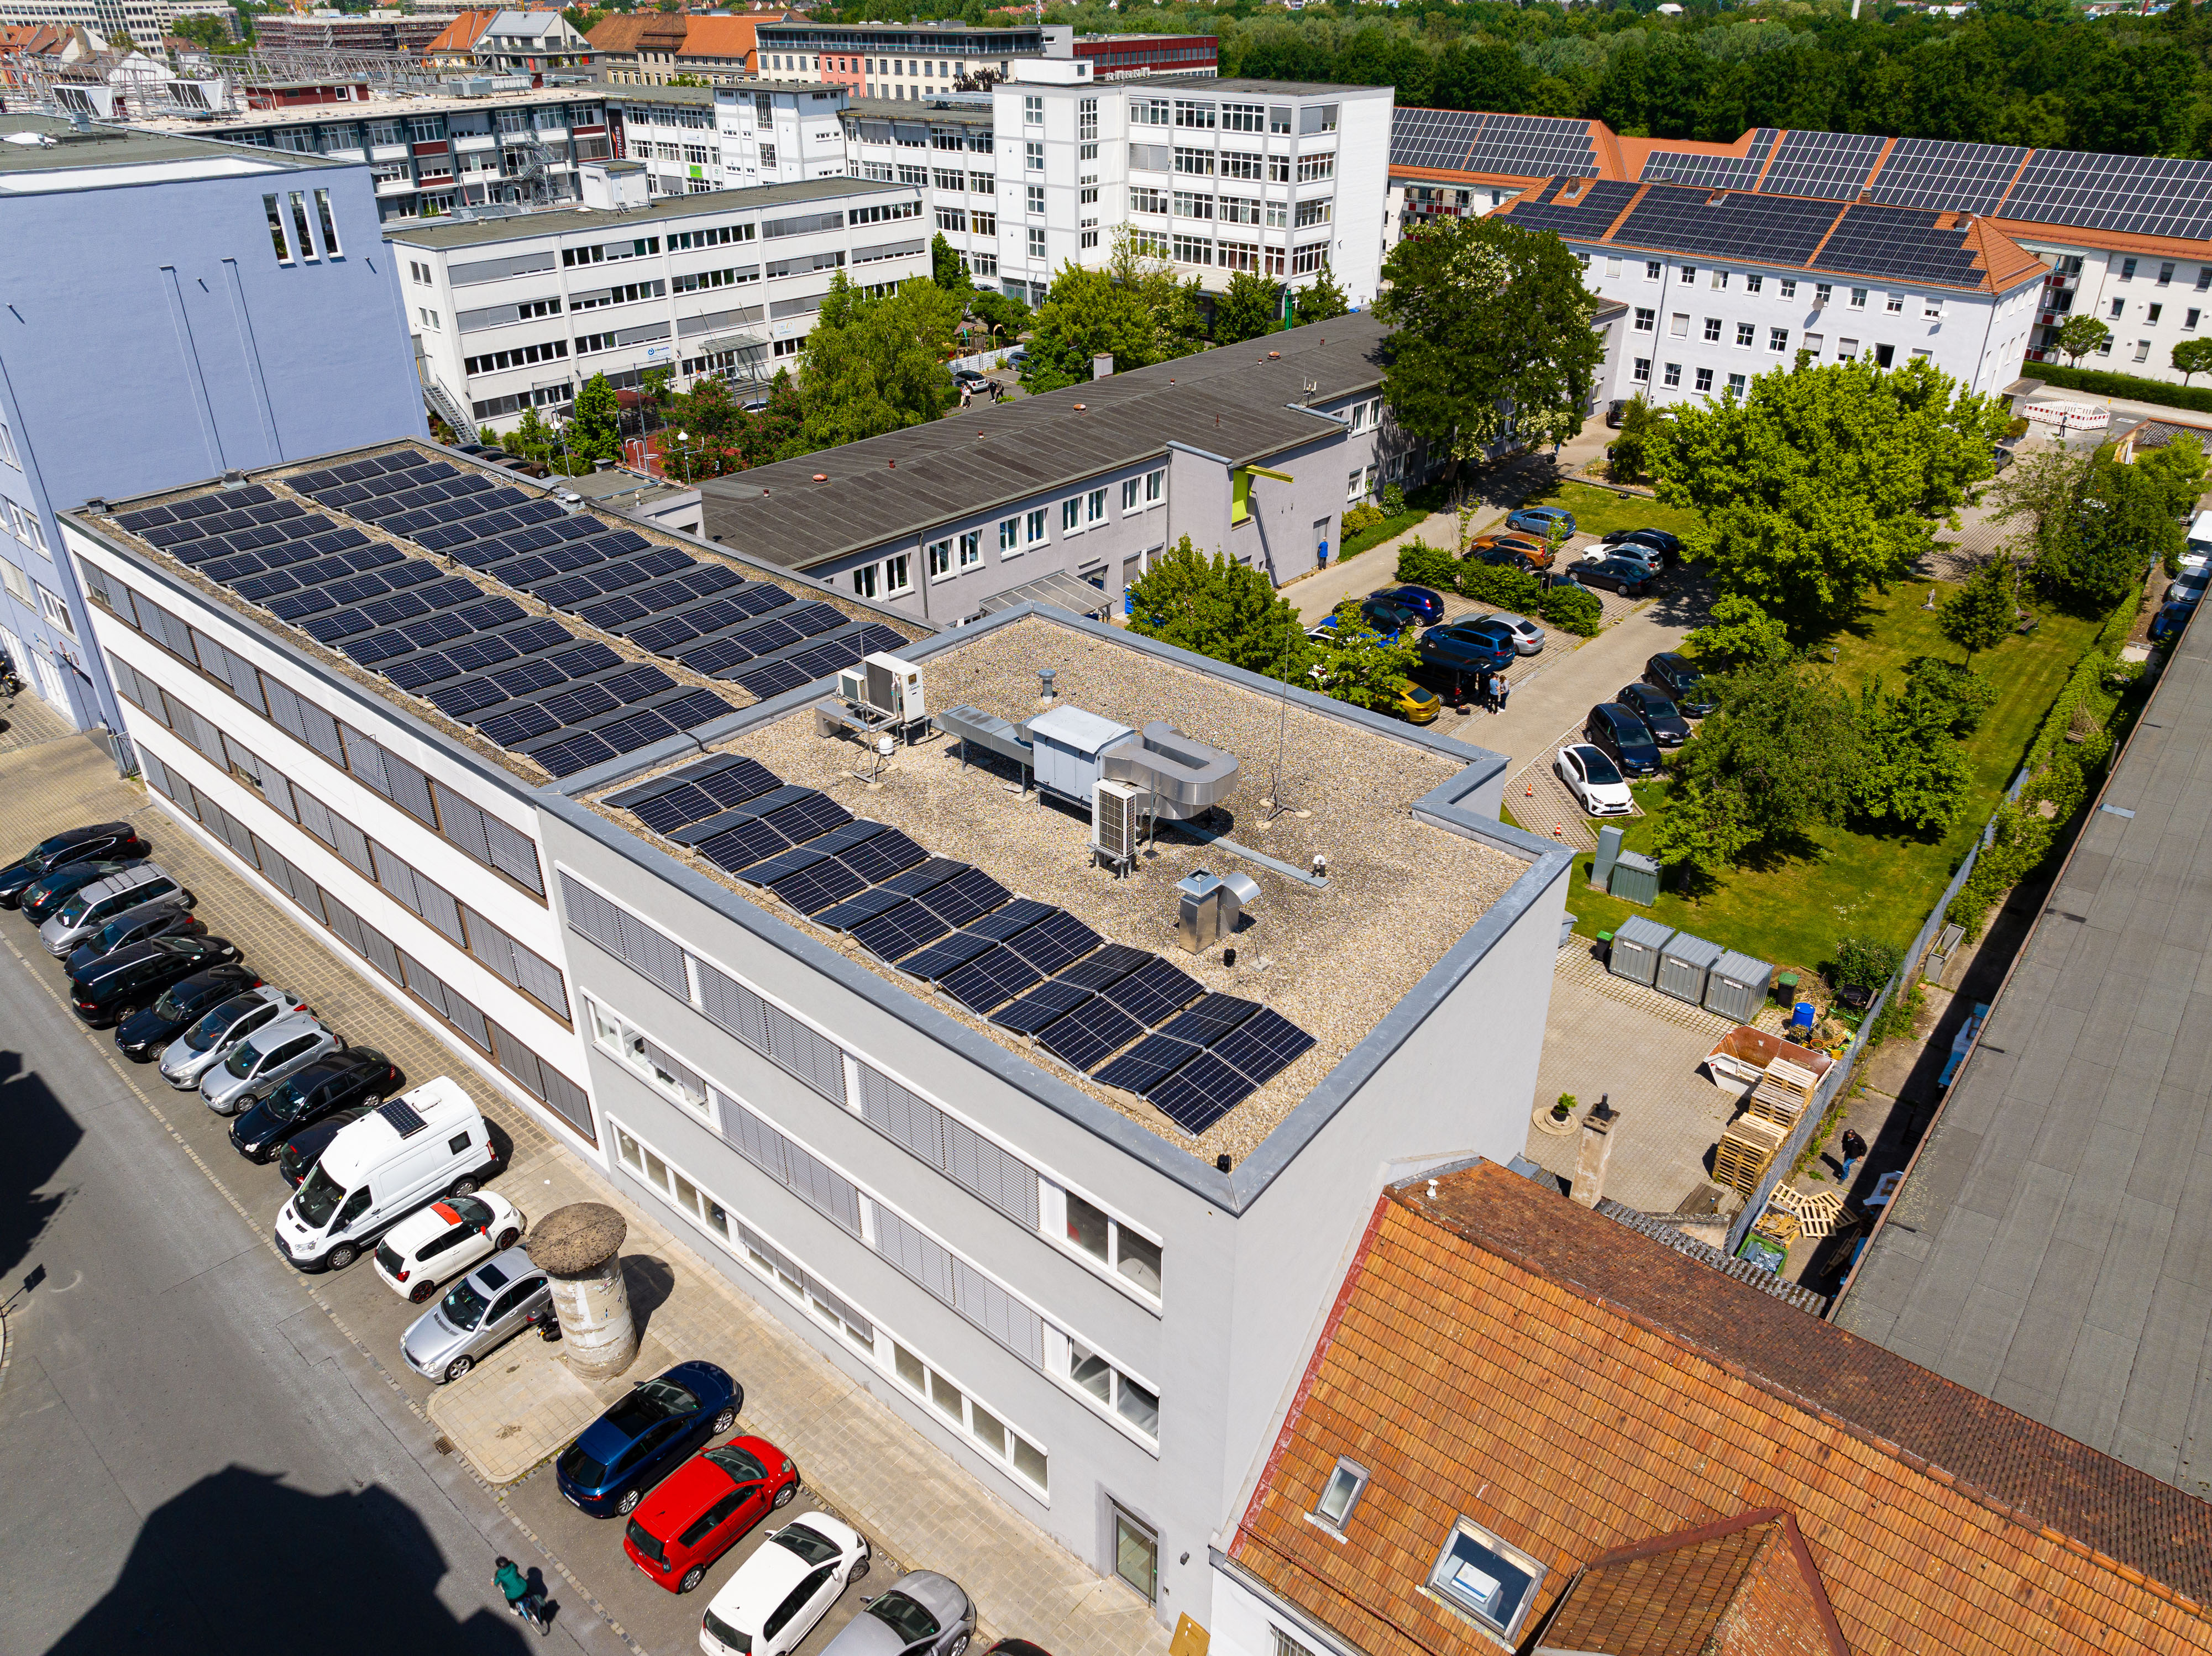
[(248, 484), (117, 522), (553, 776), (697, 730), (734, 703), (533, 617), (509, 593), (449, 573), (453, 564), (754, 699), (907, 643), (878, 621), (414, 451), (283, 482), (323, 511)]

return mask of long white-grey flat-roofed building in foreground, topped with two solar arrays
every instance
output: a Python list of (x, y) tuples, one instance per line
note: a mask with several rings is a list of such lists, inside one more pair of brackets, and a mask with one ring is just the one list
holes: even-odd
[[(1376, 1189), (1526, 1132), (1571, 858), (1498, 822), (1495, 754), (1055, 610), (936, 635), (628, 524), (655, 551), (608, 557), (657, 575), (555, 568), (535, 535), (595, 548), (611, 524), (566, 537), (580, 513), (531, 495), (383, 444), (75, 513), (150, 780), (1015, 1519), (1203, 1625), (1208, 1537)], [(456, 573), (400, 586), (420, 621), (310, 608), (316, 586), (276, 593), (195, 533), (241, 513), (338, 524), (312, 537), (358, 535), (380, 579), (416, 548)], [(586, 595), (588, 570), (613, 579)], [(562, 619), (502, 608), (509, 584)], [(524, 659), (456, 661), (427, 626), (447, 612)], [(823, 630), (785, 643), (801, 623)], [(1106, 743), (1137, 792), (1225, 807), (1234, 840), (1166, 820), (1115, 878), (1086, 811), (975, 741), (951, 763), (951, 725), (883, 763), (825, 736), (852, 712), (821, 723), (821, 674), (880, 648), (984, 745), (1018, 752), (1013, 721), (1037, 754)], [(1250, 884), (1241, 929), (1186, 951), (1199, 869)]]

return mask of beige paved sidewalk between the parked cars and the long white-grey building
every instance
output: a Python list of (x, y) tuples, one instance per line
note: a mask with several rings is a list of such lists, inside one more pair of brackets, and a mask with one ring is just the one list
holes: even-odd
[[(352, 955), (341, 957), (343, 944), (325, 944), (310, 933), (261, 889), (259, 876), (248, 878), (228, 853), (179, 825), (144, 785), (117, 778), (97, 743), (49, 741), (0, 752), (0, 794), (11, 805), (11, 829), (22, 845), (86, 820), (139, 822), (155, 858), (197, 893), (210, 931), (239, 944), (268, 982), (307, 999), (354, 1044), (383, 1050), (409, 1083), (451, 1075), (476, 1099), (493, 1136), (511, 1143), (498, 1189), (522, 1207), (524, 1218), (535, 1220), (584, 1198), (617, 1207), (630, 1227), (624, 1276), (646, 1324), (630, 1373), (655, 1373), (679, 1353), (721, 1358), (745, 1382), (745, 1430), (790, 1448), (805, 1468), (807, 1486), (872, 1539), (880, 1537), (896, 1559), (960, 1581), (980, 1610), (984, 1643), (1013, 1632), (1055, 1656), (1159, 1656), (1168, 1649), (1168, 1629), (1135, 1592), (1099, 1576), (1013, 1512), (867, 1386), (708, 1267), (657, 1214), (630, 1203), (555, 1143), (458, 1048), (385, 995), (365, 966)], [(343, 1276), (321, 1280), (334, 1289), (347, 1282)], [(396, 1353), (372, 1355), (387, 1373), (407, 1377)], [(471, 1388), (478, 1382), (482, 1388), (495, 1377), (484, 1369), (458, 1384)], [(599, 1388), (602, 1402), (626, 1386), (628, 1377), (608, 1382)], [(409, 1395), (425, 1393), (420, 1384), (407, 1388)], [(440, 1404), (445, 1408), (451, 1404)], [(584, 1572), (586, 1583), (593, 1572), (628, 1568), (619, 1550), (571, 1559), (571, 1565)]]

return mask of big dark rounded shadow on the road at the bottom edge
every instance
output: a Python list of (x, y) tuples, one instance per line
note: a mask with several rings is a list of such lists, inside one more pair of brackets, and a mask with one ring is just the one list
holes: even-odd
[(148, 1514), (122, 1576), (49, 1656), (520, 1656), (538, 1645), (504, 1610), (456, 1618), (436, 1596), (445, 1574), (429, 1530), (389, 1490), (305, 1495), (276, 1472), (228, 1466)]

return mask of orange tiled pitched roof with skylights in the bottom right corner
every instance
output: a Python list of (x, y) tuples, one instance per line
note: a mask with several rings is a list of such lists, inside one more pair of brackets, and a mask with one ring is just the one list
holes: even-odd
[(1376, 1203), (1230, 1543), (1369, 1656), (1495, 1656), (1422, 1592), (1460, 1517), (1546, 1568), (1524, 1636), (1674, 1603), (1723, 1656), (2212, 1652), (2212, 1506), (1502, 1167)]

